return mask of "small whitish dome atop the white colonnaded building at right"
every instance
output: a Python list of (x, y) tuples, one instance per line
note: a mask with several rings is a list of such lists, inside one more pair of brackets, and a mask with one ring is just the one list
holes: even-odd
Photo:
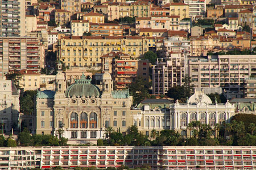
[(204, 94), (204, 90), (202, 91), (195, 91), (195, 94), (193, 94), (191, 97), (188, 99), (188, 103), (199, 103), (199, 102), (205, 102), (207, 104), (211, 104), (212, 100)]

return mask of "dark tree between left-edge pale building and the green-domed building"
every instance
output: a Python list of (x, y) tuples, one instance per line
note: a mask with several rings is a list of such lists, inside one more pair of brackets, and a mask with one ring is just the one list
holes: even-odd
[(26, 92), (20, 94), (19, 105), (20, 105), (21, 113), (34, 114), (34, 111), (35, 111), (34, 100), (37, 93), (38, 92), (34, 90), (27, 90)]

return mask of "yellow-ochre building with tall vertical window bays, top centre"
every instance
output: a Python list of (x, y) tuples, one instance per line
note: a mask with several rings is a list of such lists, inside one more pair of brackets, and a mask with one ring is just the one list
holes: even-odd
[(150, 3), (149, 2), (133, 2), (130, 3), (131, 17), (150, 17)]

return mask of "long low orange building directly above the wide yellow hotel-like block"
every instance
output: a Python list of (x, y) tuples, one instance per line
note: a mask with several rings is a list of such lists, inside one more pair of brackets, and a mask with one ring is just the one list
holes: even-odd
[(90, 33), (95, 36), (122, 36), (123, 28), (114, 23), (90, 23)]

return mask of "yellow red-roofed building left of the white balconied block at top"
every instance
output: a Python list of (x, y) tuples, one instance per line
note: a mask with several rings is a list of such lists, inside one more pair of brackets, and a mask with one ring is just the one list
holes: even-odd
[(181, 2), (170, 3), (170, 15), (180, 15), (180, 20), (189, 18), (189, 6)]

